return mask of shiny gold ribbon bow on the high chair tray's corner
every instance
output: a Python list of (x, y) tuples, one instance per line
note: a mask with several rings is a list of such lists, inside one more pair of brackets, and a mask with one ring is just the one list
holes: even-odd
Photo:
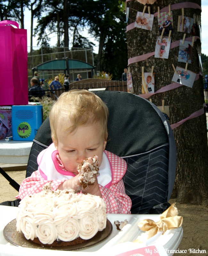
[(167, 210), (165, 210), (161, 216), (160, 220), (155, 222), (152, 219), (144, 219), (138, 223), (139, 228), (142, 231), (147, 231), (144, 235), (139, 236), (134, 242), (143, 243), (157, 232), (163, 231), (163, 235), (167, 229), (173, 229), (180, 227), (183, 222), (182, 216), (178, 215), (178, 209), (172, 204)]

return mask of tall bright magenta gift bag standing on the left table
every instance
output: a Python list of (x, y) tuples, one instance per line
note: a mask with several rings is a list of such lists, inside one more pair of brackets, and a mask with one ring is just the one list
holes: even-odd
[(27, 30), (15, 21), (0, 22), (0, 77), (0, 105), (27, 105)]

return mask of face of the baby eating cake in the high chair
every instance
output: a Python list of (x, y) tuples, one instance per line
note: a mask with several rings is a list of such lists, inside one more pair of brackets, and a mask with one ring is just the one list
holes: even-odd
[(58, 142), (54, 145), (67, 171), (78, 174), (77, 166), (85, 158), (98, 156), (98, 166), (102, 162), (103, 150), (107, 141), (104, 140), (100, 124), (81, 125), (75, 132), (57, 132)]

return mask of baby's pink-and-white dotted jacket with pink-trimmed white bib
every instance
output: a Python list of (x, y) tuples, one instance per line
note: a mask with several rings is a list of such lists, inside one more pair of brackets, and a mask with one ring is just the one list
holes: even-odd
[[(57, 190), (61, 183), (73, 176), (72, 173), (65, 171), (57, 164), (54, 158), (56, 153), (57, 150), (52, 143), (38, 155), (38, 170), (23, 180), (20, 185), (19, 196), (16, 198), (23, 199), (30, 194), (41, 192), (44, 184), (49, 181), (52, 181), (52, 190)], [(107, 213), (131, 213), (132, 202), (125, 194), (122, 180), (127, 168), (125, 160), (107, 150), (103, 152), (103, 159), (107, 159), (107, 163), (101, 169), (102, 163), (99, 167), (98, 183), (102, 198), (107, 206)]]

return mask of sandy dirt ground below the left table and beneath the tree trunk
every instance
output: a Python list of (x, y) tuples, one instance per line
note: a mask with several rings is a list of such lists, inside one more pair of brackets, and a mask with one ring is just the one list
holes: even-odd
[[(7, 171), (7, 174), (19, 184), (25, 178), (25, 173), (26, 171)], [(0, 202), (14, 200), (16, 195), (18, 192), (0, 174)], [(172, 202), (173, 200), (170, 201)], [(208, 255), (208, 207), (177, 202), (176, 207), (179, 215), (183, 217), (183, 238), (179, 249), (187, 252), (175, 253), (174, 256)], [(198, 250), (206, 252), (199, 253)]]

